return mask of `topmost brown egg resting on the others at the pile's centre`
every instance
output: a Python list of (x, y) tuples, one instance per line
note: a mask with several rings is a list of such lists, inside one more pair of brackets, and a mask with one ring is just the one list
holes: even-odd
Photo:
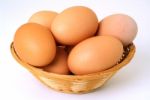
[(83, 6), (65, 9), (54, 18), (51, 24), (51, 31), (56, 41), (65, 45), (75, 45), (93, 36), (97, 28), (96, 14)]

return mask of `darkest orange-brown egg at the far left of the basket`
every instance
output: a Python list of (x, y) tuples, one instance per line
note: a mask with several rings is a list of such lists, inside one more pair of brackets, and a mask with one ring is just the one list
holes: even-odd
[(19, 27), (13, 44), (19, 58), (33, 66), (45, 66), (55, 57), (55, 40), (49, 29), (40, 24), (26, 23)]

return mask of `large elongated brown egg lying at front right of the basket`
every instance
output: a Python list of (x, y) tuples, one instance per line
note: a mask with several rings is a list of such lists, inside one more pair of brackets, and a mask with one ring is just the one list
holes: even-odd
[(76, 75), (95, 73), (114, 66), (122, 54), (120, 40), (111, 36), (95, 36), (80, 42), (71, 50), (68, 66)]

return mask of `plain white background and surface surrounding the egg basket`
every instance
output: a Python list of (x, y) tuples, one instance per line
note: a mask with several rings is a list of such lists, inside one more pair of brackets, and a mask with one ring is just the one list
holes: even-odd
[[(138, 24), (132, 61), (104, 87), (75, 95), (55, 92), (36, 80), (11, 56), (16, 29), (39, 10), (61, 12), (73, 5), (93, 9), (100, 19), (125, 13)], [(149, 0), (1, 0), (0, 2), (0, 100), (150, 100), (150, 1)]]

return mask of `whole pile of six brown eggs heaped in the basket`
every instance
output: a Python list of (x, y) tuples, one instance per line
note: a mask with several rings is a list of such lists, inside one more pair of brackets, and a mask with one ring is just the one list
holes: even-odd
[(89, 8), (61, 13), (39, 11), (21, 25), (13, 45), (25, 63), (57, 74), (84, 75), (113, 67), (137, 34), (128, 15), (113, 14), (100, 22)]

